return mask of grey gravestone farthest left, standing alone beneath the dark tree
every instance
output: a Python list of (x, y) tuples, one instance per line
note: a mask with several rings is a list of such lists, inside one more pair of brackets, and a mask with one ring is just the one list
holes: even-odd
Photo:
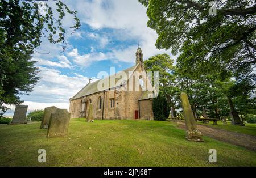
[(27, 114), (27, 105), (16, 105), (13, 120), (10, 124), (27, 124), (26, 114)]

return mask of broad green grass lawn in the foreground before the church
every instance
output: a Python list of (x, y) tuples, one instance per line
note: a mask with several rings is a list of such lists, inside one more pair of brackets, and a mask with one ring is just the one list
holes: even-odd
[[(39, 126), (0, 125), (0, 166), (256, 166), (255, 151), (209, 137), (189, 142), (171, 122), (76, 118), (67, 136), (49, 139)], [(208, 162), (209, 149), (217, 163)]]

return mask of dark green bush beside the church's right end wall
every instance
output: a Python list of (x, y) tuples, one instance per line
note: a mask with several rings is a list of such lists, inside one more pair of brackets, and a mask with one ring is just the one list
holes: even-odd
[(165, 121), (169, 117), (170, 107), (164, 96), (159, 94), (157, 98), (153, 98), (153, 113), (154, 120)]

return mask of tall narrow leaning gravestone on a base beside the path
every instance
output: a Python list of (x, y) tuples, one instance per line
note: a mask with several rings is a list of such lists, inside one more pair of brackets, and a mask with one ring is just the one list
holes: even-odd
[(186, 138), (189, 141), (196, 141), (196, 142), (204, 141), (202, 138), (201, 132), (196, 128), (196, 121), (195, 121), (195, 118), (193, 117), (193, 112), (189, 104), (187, 94), (184, 92), (181, 92), (180, 99), (181, 99), (181, 105), (183, 108), (183, 113), (185, 118), (185, 125), (187, 129)]

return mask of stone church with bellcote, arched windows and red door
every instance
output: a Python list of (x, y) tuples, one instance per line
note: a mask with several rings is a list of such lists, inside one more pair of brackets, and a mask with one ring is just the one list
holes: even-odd
[(134, 66), (89, 82), (70, 98), (71, 118), (87, 117), (92, 103), (95, 119), (152, 119), (155, 90), (144, 68), (140, 47), (135, 54)]

